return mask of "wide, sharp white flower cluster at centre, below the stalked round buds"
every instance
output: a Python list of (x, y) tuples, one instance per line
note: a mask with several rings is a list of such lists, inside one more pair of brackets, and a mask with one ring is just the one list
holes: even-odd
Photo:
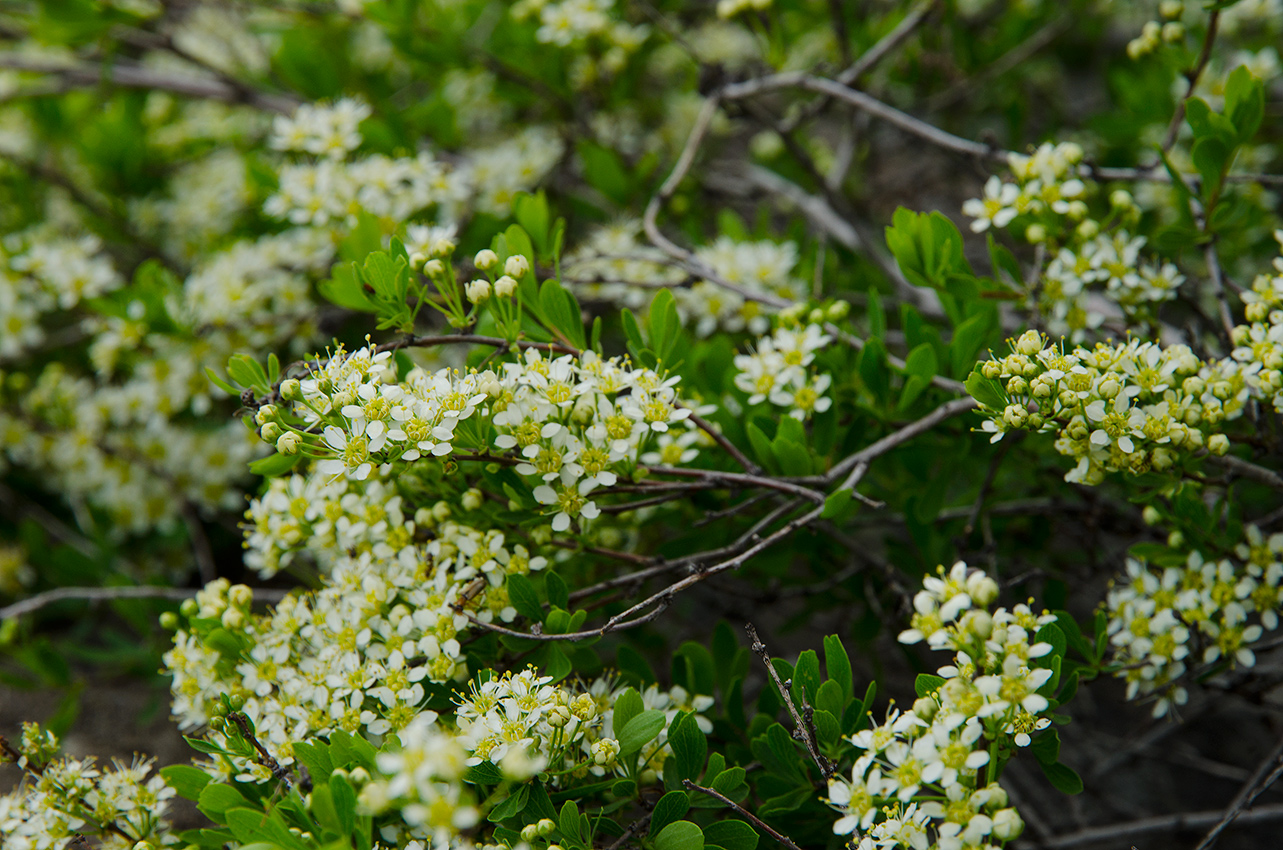
[[(513, 451), (514, 471), (545, 505), (554, 531), (595, 518), (589, 494), (631, 474), (652, 444), (663, 463), (694, 456), (685, 445), (665, 451), (670, 427), (690, 417), (677, 403), (677, 378), (626, 359), (594, 351), (549, 359), (530, 347), (498, 371), (414, 368), (396, 381), (390, 356), (340, 346), (302, 381), (281, 383), (286, 406), (258, 410), (260, 436), (282, 454), (318, 458), (322, 474), (355, 481), (384, 463), (449, 455), (461, 438), (476, 454)], [(457, 431), (473, 417), (480, 422), (467, 433)]]

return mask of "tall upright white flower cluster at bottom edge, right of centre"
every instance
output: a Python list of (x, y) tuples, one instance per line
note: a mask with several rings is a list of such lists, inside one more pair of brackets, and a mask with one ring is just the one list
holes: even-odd
[[(999, 762), (1046, 728), (1051, 703), (1041, 691), (1052, 671), (1037, 631), (1053, 621), (1028, 605), (988, 606), (997, 583), (962, 562), (924, 581), (903, 644), (926, 641), (955, 653), (934, 692), (911, 710), (852, 736), (861, 750), (851, 779), (829, 781), (826, 803), (842, 813), (838, 835), (861, 831), (858, 847), (939, 850), (1001, 846), (1024, 823), (998, 786)], [(985, 749), (993, 744), (990, 749)]]

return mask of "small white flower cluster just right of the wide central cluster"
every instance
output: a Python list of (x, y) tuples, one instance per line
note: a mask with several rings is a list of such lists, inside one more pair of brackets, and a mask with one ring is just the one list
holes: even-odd
[(735, 386), (748, 394), (749, 404), (770, 401), (788, 408), (794, 419), (824, 413), (833, 405), (824, 395), (833, 377), (811, 367), (815, 353), (831, 341), (819, 324), (776, 328), (757, 341), (752, 354), (735, 355)]

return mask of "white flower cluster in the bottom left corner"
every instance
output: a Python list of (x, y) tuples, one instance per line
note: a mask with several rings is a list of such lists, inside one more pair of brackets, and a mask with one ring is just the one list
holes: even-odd
[(58, 738), (35, 723), (23, 726), (17, 747), (26, 779), (0, 796), (0, 836), (6, 850), (64, 850), (96, 835), (104, 846), (162, 844), (174, 796), (154, 762), (136, 758), (100, 768), (92, 756), (59, 758)]

